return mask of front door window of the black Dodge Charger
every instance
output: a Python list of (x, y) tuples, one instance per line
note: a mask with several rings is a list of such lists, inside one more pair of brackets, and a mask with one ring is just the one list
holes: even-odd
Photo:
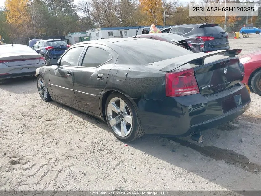
[(61, 58), (60, 65), (67, 65), (67, 66), (78, 66), (77, 62), (80, 58), (80, 54), (83, 50), (82, 47), (75, 47), (68, 50), (63, 57)]

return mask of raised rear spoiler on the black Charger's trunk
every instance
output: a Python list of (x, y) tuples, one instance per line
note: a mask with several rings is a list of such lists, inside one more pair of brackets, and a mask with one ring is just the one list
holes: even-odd
[(232, 50), (218, 50), (213, 52), (199, 52), (199, 53), (193, 53), (193, 54), (187, 54), (183, 56), (179, 56), (172, 59), (166, 59), (163, 61), (158, 61), (154, 63), (150, 63), (151, 65), (166, 65), (166, 67), (160, 69), (160, 71), (164, 72), (170, 72), (174, 70), (175, 68), (178, 68), (182, 65), (185, 65), (187, 63), (191, 63), (194, 65), (204, 65), (205, 58), (214, 56), (214, 55), (224, 55), (228, 57), (235, 57), (237, 54), (239, 54), (242, 50), (241, 49), (232, 49)]

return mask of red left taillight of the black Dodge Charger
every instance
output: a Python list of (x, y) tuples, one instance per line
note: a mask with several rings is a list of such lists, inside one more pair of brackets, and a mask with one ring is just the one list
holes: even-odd
[(199, 93), (193, 69), (166, 73), (165, 83), (167, 97), (178, 97)]

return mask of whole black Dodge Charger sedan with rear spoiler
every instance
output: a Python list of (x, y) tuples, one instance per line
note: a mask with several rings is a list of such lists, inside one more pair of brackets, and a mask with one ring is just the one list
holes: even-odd
[(86, 41), (38, 68), (37, 87), (42, 100), (103, 119), (124, 142), (144, 133), (190, 136), (250, 107), (238, 51), (193, 53), (143, 38)]

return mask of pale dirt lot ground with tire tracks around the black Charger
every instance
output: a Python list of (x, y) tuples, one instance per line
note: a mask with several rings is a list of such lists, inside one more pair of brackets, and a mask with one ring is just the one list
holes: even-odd
[[(259, 35), (230, 40), (242, 54), (260, 43)], [(200, 144), (144, 136), (128, 146), (104, 122), (43, 102), (34, 77), (7, 80), (0, 94), (0, 190), (261, 190), (256, 94), (244, 115), (205, 131)]]

